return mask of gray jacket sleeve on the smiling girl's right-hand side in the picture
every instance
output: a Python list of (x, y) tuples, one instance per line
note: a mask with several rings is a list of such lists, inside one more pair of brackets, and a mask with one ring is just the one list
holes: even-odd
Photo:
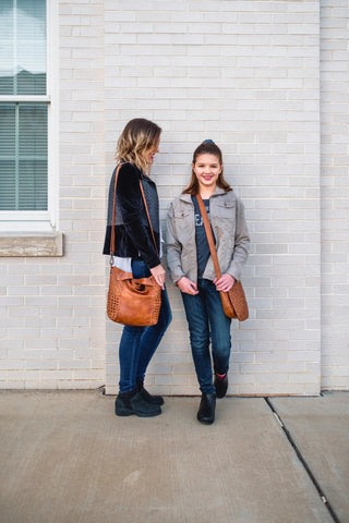
[(244, 218), (244, 206), (241, 199), (237, 198), (234, 248), (229, 269), (226, 271), (236, 280), (241, 278), (243, 266), (249, 256), (249, 246), (250, 235)]

